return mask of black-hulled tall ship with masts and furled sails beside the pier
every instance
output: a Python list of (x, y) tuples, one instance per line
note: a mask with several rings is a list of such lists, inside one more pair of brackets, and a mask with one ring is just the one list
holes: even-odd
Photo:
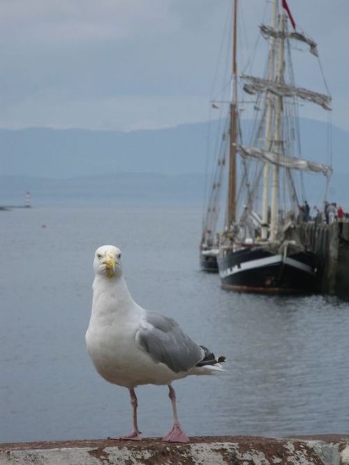
[[(321, 176), (325, 201), (332, 168), (314, 160), (315, 152), (302, 156), (299, 106), (311, 102), (329, 111), (331, 97), (328, 91), (318, 93), (296, 85), (293, 52), (302, 47), (311, 60), (318, 56), (317, 45), (297, 30), (286, 0), (269, 3), (270, 23), (259, 26), (267, 45), (265, 73), (258, 76), (238, 73), (238, 0), (233, 0), (228, 128), (222, 138), (228, 143), (225, 155), (218, 158), (200, 259), (205, 253), (214, 255), (225, 289), (302, 293), (315, 289), (320, 267), (318, 257), (299, 234), (299, 226), (309, 220), (306, 183), (309, 173)], [(253, 105), (248, 130), (241, 117), (246, 103), (240, 89)], [(228, 195), (223, 227), (217, 233), (219, 208), (214, 201), (223, 189), (223, 172), (228, 174)]]

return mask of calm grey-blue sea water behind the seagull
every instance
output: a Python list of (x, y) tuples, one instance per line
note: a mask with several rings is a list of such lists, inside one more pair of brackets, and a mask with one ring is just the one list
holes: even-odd
[[(131, 431), (127, 390), (96, 374), (84, 346), (91, 263), (108, 243), (140, 305), (228, 358), (219, 376), (174, 383), (188, 435), (349, 431), (348, 303), (223, 291), (198, 268), (200, 222), (200, 208), (180, 206), (0, 212), (1, 442)], [(167, 432), (168, 389), (138, 398), (144, 436)]]

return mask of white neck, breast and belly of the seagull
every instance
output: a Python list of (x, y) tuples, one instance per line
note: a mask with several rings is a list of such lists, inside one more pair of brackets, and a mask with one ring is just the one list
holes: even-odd
[(168, 384), (185, 376), (163, 363), (154, 363), (138, 346), (135, 335), (148, 324), (145, 314), (122, 277), (112, 285), (101, 277), (95, 278), (86, 344), (97, 372), (110, 383), (134, 388), (140, 384)]

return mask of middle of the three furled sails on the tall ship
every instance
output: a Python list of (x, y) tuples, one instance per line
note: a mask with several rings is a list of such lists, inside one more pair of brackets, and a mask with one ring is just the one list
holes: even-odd
[(242, 75), (242, 78), (248, 80), (248, 83), (244, 84), (244, 91), (247, 93), (254, 94), (269, 91), (280, 97), (299, 97), (316, 103), (324, 109), (331, 109), (329, 105), (332, 98), (323, 93), (308, 91), (302, 89), (302, 87), (289, 86), (288, 84), (269, 81), (260, 77)]

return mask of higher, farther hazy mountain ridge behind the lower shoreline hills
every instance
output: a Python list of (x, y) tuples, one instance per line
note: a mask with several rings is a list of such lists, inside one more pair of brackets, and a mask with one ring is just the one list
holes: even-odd
[[(214, 134), (218, 121), (211, 123)], [(304, 158), (326, 162), (327, 125), (302, 121)], [(134, 132), (0, 130), (0, 175), (73, 178), (121, 172), (203, 173), (208, 123)], [(333, 128), (335, 171), (349, 172), (349, 132)]]

